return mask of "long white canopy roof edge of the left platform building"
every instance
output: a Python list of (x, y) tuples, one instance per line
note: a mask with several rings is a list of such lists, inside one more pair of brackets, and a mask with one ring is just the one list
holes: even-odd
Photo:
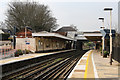
[(32, 36), (34, 37), (38, 37), (38, 36), (41, 36), (41, 37), (58, 37), (58, 38), (62, 38), (62, 39), (66, 39), (66, 40), (74, 40), (72, 38), (68, 38), (66, 36), (63, 36), (63, 35), (60, 35), (60, 34), (57, 34), (57, 33), (45, 33), (45, 32), (39, 32), (39, 33), (32, 33)]

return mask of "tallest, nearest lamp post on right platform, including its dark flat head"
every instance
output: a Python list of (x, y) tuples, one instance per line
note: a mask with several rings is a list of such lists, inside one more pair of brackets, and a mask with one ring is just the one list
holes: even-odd
[(112, 32), (111, 32), (111, 26), (112, 26), (112, 8), (104, 8), (104, 11), (110, 11), (110, 65), (112, 65)]

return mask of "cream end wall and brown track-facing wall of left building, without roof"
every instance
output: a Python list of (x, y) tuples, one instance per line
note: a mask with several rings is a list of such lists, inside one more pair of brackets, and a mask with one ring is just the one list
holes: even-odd
[(16, 49), (44, 51), (66, 48), (66, 40), (55, 37), (27, 38), (27, 42), (30, 44), (26, 44), (25, 38), (16, 38)]

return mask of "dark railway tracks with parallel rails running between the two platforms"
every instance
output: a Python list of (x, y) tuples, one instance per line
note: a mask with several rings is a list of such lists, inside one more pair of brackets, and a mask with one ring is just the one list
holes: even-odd
[(66, 79), (83, 53), (85, 52), (74, 51), (59, 54), (18, 72), (6, 75), (2, 80)]

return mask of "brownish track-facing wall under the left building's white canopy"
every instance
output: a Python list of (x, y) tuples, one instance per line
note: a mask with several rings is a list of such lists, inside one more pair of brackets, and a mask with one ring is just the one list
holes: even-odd
[(55, 50), (65, 48), (65, 41), (59, 38), (35, 37), (36, 51)]

